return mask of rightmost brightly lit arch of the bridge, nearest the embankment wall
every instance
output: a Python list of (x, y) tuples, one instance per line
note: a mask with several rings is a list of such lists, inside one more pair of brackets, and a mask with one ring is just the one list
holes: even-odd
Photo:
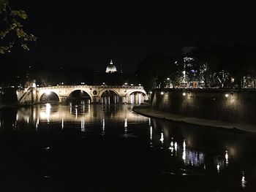
[(148, 100), (148, 96), (144, 90), (132, 90), (125, 95), (125, 101), (131, 104), (140, 104), (146, 100)]

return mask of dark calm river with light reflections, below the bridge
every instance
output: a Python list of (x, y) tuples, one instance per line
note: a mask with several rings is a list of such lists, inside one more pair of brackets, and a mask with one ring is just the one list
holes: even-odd
[(255, 191), (256, 134), (174, 123), (130, 104), (0, 111), (1, 191)]

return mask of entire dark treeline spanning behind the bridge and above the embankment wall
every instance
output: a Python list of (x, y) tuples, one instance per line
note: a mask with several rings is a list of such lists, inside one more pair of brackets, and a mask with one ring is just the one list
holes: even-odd
[[(97, 72), (87, 66), (46, 66), (28, 64), (10, 55), (0, 55), (0, 86), (26, 87), (36, 80), (48, 85), (139, 85), (146, 91), (178, 88), (182, 82), (203, 82), (203, 88), (255, 88), (255, 45), (198, 45), (189, 53), (148, 55), (138, 64), (135, 74)], [(102, 67), (105, 69), (105, 66)], [(185, 72), (185, 75), (184, 75)], [(184, 78), (185, 77), (185, 78)]]

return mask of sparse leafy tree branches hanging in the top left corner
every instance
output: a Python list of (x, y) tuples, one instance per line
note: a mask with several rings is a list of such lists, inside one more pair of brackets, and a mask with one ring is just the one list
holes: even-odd
[(9, 0), (0, 0), (0, 17), (0, 53), (10, 52), (15, 44), (29, 50), (28, 43), (36, 41), (37, 37), (23, 30), (21, 21), (28, 18), (26, 12), (22, 9), (12, 9)]

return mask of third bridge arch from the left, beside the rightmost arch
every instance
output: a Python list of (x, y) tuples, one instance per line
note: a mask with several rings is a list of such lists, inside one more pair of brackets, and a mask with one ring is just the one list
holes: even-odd
[(103, 89), (99, 92), (99, 102), (101, 104), (117, 104), (120, 101), (118, 92), (112, 88)]

